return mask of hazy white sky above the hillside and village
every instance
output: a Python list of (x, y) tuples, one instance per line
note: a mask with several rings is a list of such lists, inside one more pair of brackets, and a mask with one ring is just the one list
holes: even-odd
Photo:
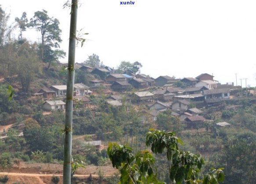
[[(123, 1), (123, 0), (122, 0)], [(1, 0), (11, 22), (27, 12), (32, 18), (42, 9), (58, 18), (61, 49), (68, 53), (69, 10), (66, 0)], [(130, 1), (129, 1), (130, 2)], [(77, 28), (88, 32), (88, 41), (76, 49), (76, 62), (96, 53), (105, 65), (139, 61), (141, 73), (196, 77), (213, 74), (222, 84), (248, 78), (256, 86), (255, 0), (80, 0)], [(35, 41), (40, 35), (28, 31)], [(67, 62), (67, 58), (61, 60)], [(245, 80), (242, 80), (245, 87)]]

